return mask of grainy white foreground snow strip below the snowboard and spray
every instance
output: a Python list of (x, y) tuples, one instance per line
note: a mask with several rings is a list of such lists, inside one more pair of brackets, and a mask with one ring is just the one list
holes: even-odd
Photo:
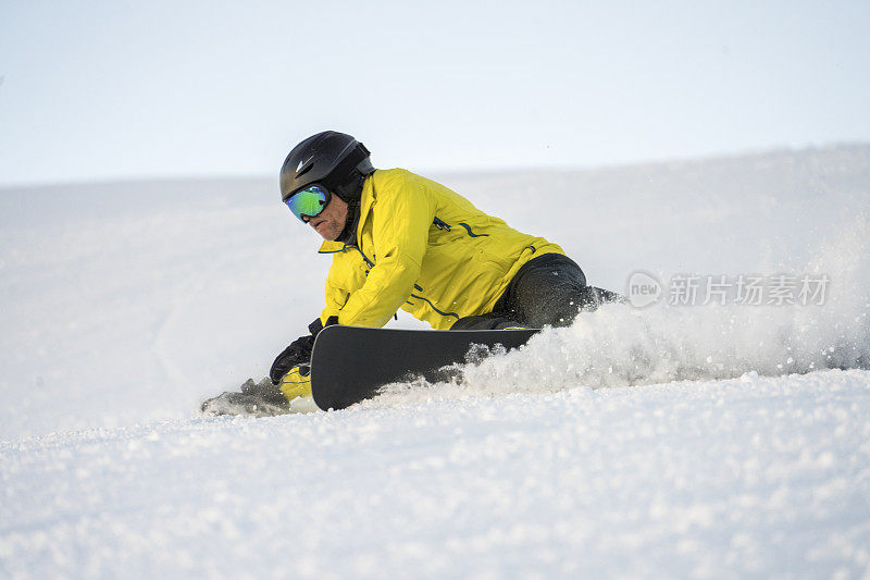
[(0, 562), (44, 578), (856, 577), (869, 409), (853, 370), (7, 442)]

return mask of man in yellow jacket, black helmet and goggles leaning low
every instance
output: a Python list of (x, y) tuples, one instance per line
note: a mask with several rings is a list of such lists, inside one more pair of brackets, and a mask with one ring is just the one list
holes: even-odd
[[(437, 330), (566, 326), (580, 310), (620, 298), (587, 286), (556, 244), (509, 227), (433, 181), (375, 170), (369, 155), (350, 135), (327, 131), (284, 161), (282, 200), (323, 237), (319, 251), (333, 263), (326, 307), (309, 334), (277, 356), (272, 385), (249, 381), (231, 394), (248, 410), (258, 399), (283, 408), (310, 396), (311, 349), (330, 324), (380, 328), (401, 308)], [(214, 400), (203, 410), (215, 412)]]

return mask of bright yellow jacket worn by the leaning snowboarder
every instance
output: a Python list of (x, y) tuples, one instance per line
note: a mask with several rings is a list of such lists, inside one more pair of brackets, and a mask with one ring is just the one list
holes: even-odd
[(402, 169), (377, 170), (362, 187), (357, 245), (332, 254), (325, 324), (380, 328), (399, 309), (438, 330), (493, 310), (522, 264), (564, 254), (522, 234), (447, 187)]

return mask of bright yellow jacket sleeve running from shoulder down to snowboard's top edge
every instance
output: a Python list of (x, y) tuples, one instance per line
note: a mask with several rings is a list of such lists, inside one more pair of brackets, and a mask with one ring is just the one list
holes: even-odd
[(372, 208), (375, 266), (338, 314), (340, 324), (380, 328), (411, 296), (420, 276), (435, 200), (425, 185), (396, 178), (380, 188)]

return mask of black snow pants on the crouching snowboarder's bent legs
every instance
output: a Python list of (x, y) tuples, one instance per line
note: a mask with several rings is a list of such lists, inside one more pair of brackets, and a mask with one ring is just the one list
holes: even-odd
[(583, 270), (568, 256), (545, 254), (520, 268), (492, 312), (460, 318), (450, 330), (568, 326), (581, 310), (622, 300), (617, 293), (587, 286)]

